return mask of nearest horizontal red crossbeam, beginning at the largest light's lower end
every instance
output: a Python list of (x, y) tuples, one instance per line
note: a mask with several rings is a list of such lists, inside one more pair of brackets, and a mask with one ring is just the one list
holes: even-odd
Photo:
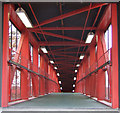
[(28, 28), (29, 31), (34, 32), (34, 31), (40, 31), (40, 30), (96, 30), (96, 27), (41, 27), (40, 28)]

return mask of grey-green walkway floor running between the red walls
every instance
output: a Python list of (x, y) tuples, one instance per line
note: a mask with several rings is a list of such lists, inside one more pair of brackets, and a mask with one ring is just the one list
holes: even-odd
[[(78, 93), (53, 93), (23, 103), (12, 105), (9, 108), (41, 108), (41, 109), (107, 109), (106, 105), (96, 102), (89, 97)], [(109, 108), (110, 109), (110, 108)]]

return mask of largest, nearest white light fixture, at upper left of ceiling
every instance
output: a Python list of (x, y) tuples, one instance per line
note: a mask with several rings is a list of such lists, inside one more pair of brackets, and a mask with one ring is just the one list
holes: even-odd
[(21, 21), (23, 22), (23, 24), (27, 27), (27, 28), (32, 28), (32, 24), (30, 19), (28, 18), (27, 13), (25, 12), (25, 10), (21, 7), (19, 7), (16, 10), (17, 15), (19, 16), (19, 18), (21, 19)]

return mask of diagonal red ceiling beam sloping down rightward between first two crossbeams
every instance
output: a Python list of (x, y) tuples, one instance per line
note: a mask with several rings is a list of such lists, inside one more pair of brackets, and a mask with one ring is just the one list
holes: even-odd
[(53, 36), (53, 37), (57, 37), (57, 38), (62, 38), (62, 39), (67, 39), (67, 40), (72, 40), (72, 41), (77, 41), (77, 42), (80, 42), (79, 39), (76, 39), (76, 38), (72, 38), (72, 37), (68, 37), (68, 36), (63, 36), (63, 35), (59, 35), (59, 34), (54, 34), (54, 33), (50, 33), (50, 32), (40, 32), (40, 31), (33, 31), (35, 33), (40, 33), (40, 34), (45, 34), (45, 35), (48, 35), (48, 36)]

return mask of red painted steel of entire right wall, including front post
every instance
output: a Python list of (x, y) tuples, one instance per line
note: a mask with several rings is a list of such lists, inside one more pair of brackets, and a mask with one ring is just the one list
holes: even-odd
[[(111, 7), (112, 6), (112, 7)], [(101, 9), (99, 9), (100, 11)], [(99, 12), (98, 12), (99, 15)], [(95, 19), (96, 20), (96, 19)], [(89, 48), (89, 56), (85, 56), (77, 73), (77, 81), (85, 77), (89, 71), (93, 71), (96, 67), (102, 65), (108, 61), (108, 53), (106, 53), (106, 45), (104, 39), (104, 32), (112, 24), (112, 65), (106, 66), (99, 70), (97, 73), (93, 73), (91, 76), (83, 79), (81, 82), (76, 84), (75, 92), (80, 92), (90, 97), (96, 97), (99, 100), (105, 100), (112, 103), (112, 108), (118, 108), (118, 35), (117, 35), (117, 6), (116, 4), (108, 5), (106, 11), (98, 25), (96, 31), (96, 37), (98, 37), (97, 53), (95, 52), (95, 44)], [(96, 40), (93, 40), (96, 41)], [(93, 43), (92, 41), (92, 43)], [(111, 50), (109, 50), (111, 51)], [(102, 57), (101, 57), (102, 56)], [(89, 60), (90, 58), (90, 60)], [(99, 60), (100, 59), (100, 60)], [(95, 65), (93, 65), (96, 63)], [(90, 68), (90, 69), (89, 69)], [(88, 69), (88, 70), (86, 70)], [(106, 99), (106, 83), (105, 83), (105, 70), (108, 72), (109, 82), (109, 99)]]

